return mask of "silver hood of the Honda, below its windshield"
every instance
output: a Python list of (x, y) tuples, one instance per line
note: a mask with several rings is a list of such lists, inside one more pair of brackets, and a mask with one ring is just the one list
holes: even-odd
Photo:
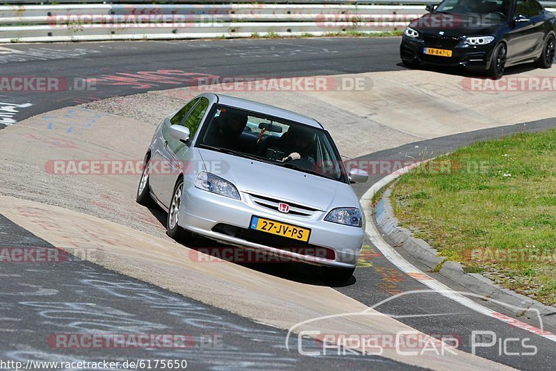
[[(320, 211), (359, 207), (351, 186), (322, 176), (199, 148), (206, 170), (234, 183), (238, 191), (268, 196)], [(218, 167), (215, 165), (218, 164)]]

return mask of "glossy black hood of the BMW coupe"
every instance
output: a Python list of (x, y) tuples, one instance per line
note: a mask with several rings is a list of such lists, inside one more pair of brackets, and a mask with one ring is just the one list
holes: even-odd
[(432, 33), (433, 35), (440, 31), (444, 32), (444, 36), (460, 37), (473, 35), (490, 35), (495, 33), (502, 24), (493, 24), (487, 19), (466, 15), (449, 15), (441, 13), (428, 13), (409, 24), (421, 33)]

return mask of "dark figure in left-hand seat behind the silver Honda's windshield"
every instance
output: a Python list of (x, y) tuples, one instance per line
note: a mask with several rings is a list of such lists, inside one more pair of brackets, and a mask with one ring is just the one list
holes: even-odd
[(212, 147), (233, 149), (239, 137), (247, 126), (247, 115), (230, 108), (222, 109), (220, 115), (208, 129), (206, 144)]

